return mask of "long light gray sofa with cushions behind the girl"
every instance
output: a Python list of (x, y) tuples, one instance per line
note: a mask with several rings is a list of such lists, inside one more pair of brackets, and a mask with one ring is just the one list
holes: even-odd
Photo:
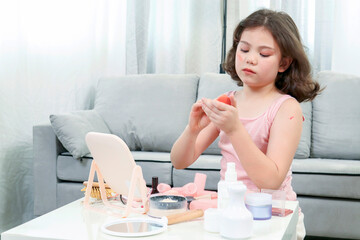
[[(293, 187), (305, 214), (307, 234), (360, 237), (360, 78), (321, 72), (325, 90), (302, 103), (305, 122), (293, 164)], [(148, 185), (183, 186), (196, 172), (216, 190), (220, 151), (213, 143), (184, 170), (170, 161), (172, 144), (185, 128), (192, 104), (238, 88), (228, 75), (131, 75), (100, 79), (94, 109), (52, 115), (34, 126), (34, 213), (42, 215), (83, 196), (91, 155), (88, 131), (110, 132), (129, 146)]]

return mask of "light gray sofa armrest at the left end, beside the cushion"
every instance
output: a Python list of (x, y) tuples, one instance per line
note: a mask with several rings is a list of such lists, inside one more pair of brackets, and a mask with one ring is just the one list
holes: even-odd
[(50, 124), (33, 127), (34, 215), (56, 208), (56, 161), (66, 151)]

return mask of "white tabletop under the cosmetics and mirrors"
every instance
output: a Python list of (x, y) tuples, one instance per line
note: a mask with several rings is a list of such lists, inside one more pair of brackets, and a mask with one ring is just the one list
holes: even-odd
[[(35, 240), (35, 239), (137, 239), (120, 238), (101, 232), (103, 223), (115, 220), (115, 217), (101, 214), (82, 206), (83, 199), (74, 201), (27, 223), (1, 234), (2, 240)], [(251, 239), (296, 239), (298, 221), (298, 202), (287, 201), (286, 208), (294, 211), (286, 217), (272, 217), (266, 221), (254, 221)], [(129, 217), (137, 217), (131, 214)], [(147, 216), (144, 216), (147, 217)], [(223, 239), (219, 233), (209, 233), (203, 228), (202, 218), (168, 226), (160, 234), (144, 238), (145, 240), (190, 240), (190, 239)]]

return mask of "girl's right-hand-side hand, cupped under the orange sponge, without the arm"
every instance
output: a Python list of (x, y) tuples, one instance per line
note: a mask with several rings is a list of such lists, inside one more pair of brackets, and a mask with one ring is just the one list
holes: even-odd
[(210, 121), (228, 135), (235, 132), (240, 123), (234, 94), (231, 94), (229, 97), (231, 106), (216, 99), (201, 99), (202, 109)]

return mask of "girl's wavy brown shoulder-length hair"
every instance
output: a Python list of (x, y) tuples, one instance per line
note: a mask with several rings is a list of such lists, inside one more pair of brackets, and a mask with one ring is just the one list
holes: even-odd
[(242, 20), (234, 31), (233, 45), (223, 64), (225, 71), (237, 85), (243, 85), (235, 69), (236, 49), (244, 30), (255, 27), (268, 29), (279, 45), (281, 56), (292, 59), (288, 69), (278, 73), (275, 80), (276, 88), (293, 96), (298, 102), (313, 100), (320, 92), (320, 85), (311, 76), (311, 65), (298, 28), (292, 18), (284, 12), (261, 9)]

